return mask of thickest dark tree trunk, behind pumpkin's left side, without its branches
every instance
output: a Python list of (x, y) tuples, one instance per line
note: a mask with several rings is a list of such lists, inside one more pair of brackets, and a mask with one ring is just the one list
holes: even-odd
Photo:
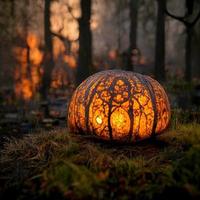
[(79, 57), (76, 83), (81, 83), (92, 72), (92, 32), (90, 29), (91, 0), (81, 0), (79, 18)]

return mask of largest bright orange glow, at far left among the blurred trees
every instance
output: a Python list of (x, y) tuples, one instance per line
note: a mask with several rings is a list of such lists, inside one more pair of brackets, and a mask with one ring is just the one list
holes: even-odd
[(28, 34), (26, 43), (29, 51), (23, 47), (13, 49), (18, 62), (14, 74), (14, 90), (17, 98), (28, 101), (34, 97), (41, 81), (43, 53), (39, 50), (39, 38), (34, 33)]

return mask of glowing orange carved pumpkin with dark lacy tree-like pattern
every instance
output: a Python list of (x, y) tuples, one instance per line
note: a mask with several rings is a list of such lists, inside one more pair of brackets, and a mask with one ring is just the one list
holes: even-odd
[(161, 133), (170, 106), (162, 86), (149, 76), (108, 70), (87, 78), (75, 90), (68, 127), (106, 140), (137, 141)]

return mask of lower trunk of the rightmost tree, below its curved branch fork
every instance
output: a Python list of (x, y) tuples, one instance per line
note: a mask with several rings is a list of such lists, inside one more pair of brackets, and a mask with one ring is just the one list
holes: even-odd
[(191, 66), (191, 55), (192, 55), (192, 27), (186, 27), (186, 41), (185, 41), (185, 81), (191, 82), (192, 66)]

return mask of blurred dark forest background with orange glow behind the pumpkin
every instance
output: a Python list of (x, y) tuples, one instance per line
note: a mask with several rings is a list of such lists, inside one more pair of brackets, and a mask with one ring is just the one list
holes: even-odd
[(75, 87), (108, 69), (150, 75), (172, 109), (198, 110), (199, 0), (2, 0), (0, 13), (0, 127), (65, 120)]

